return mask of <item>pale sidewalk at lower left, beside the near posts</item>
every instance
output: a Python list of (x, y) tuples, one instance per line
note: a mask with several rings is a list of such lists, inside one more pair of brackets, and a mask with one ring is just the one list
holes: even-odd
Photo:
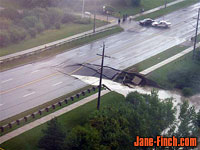
[[(103, 96), (103, 95), (105, 95), (105, 94), (107, 94), (109, 92), (110, 92), (109, 90), (103, 90), (101, 92), (101, 96)], [(71, 105), (69, 105), (67, 107), (64, 107), (64, 108), (62, 108), (62, 109), (60, 109), (60, 110), (58, 110), (58, 111), (56, 111), (54, 113), (51, 113), (51, 114), (49, 114), (47, 116), (44, 116), (44, 117), (42, 117), (42, 118), (40, 118), (38, 120), (35, 120), (34, 122), (31, 122), (31, 123), (29, 123), (29, 124), (27, 124), (27, 125), (25, 125), (25, 126), (23, 126), (21, 128), (18, 128), (16, 130), (12, 131), (12, 132), (9, 132), (8, 134), (5, 134), (5, 135), (0, 137), (0, 144), (2, 144), (4, 142), (16, 137), (16, 136), (18, 136), (18, 135), (20, 135), (20, 134), (22, 134), (22, 133), (24, 133), (26, 131), (29, 131), (29, 130), (31, 130), (31, 129), (33, 129), (33, 128), (41, 125), (41, 124), (44, 124), (47, 121), (50, 121), (51, 119), (53, 119), (55, 117), (63, 115), (63, 114), (65, 114), (65, 113), (67, 113), (67, 112), (69, 112), (69, 111), (71, 111), (73, 109), (78, 108), (79, 106), (87, 104), (87, 103), (95, 100), (97, 97), (98, 97), (98, 93), (96, 93), (94, 95), (91, 95), (89, 97), (86, 97), (83, 100), (80, 100), (80, 101), (78, 101), (76, 103), (73, 103), (73, 104), (71, 104)]]

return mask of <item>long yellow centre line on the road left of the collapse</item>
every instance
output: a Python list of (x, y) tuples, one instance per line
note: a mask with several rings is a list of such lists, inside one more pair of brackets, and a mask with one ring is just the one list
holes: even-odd
[(2, 92), (0, 92), (0, 95), (6, 94), (6, 93), (8, 93), (8, 92), (14, 91), (14, 90), (19, 89), (19, 88), (26, 87), (26, 86), (28, 86), (28, 85), (31, 85), (31, 84), (34, 84), (34, 83), (37, 83), (37, 82), (40, 82), (40, 81), (42, 81), (42, 80), (48, 79), (48, 78), (50, 78), (50, 77), (53, 77), (53, 76), (55, 76), (55, 75), (57, 75), (57, 74), (59, 74), (59, 73), (58, 73), (58, 72), (52, 73), (52, 74), (47, 75), (47, 76), (45, 76), (45, 77), (42, 77), (42, 78), (40, 78), (40, 79), (37, 79), (37, 80), (31, 81), (31, 82), (28, 82), (28, 83), (26, 83), (26, 84), (23, 84), (23, 85), (14, 87), (14, 88), (9, 89), (9, 90), (6, 90), (6, 91), (2, 91)]

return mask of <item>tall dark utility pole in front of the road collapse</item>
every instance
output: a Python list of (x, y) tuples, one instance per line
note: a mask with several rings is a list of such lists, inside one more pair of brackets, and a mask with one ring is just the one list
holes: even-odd
[(102, 76), (103, 76), (103, 62), (104, 62), (104, 52), (105, 52), (105, 43), (103, 43), (103, 52), (102, 52), (102, 61), (101, 61), (101, 72), (100, 72), (100, 80), (99, 80), (99, 93), (98, 93), (98, 102), (97, 102), (97, 109), (100, 109), (100, 100), (101, 100), (101, 83), (102, 83)]

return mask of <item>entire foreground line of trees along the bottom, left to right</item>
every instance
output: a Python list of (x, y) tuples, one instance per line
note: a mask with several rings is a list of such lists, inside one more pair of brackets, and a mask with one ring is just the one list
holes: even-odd
[(197, 137), (200, 111), (185, 101), (177, 108), (172, 99), (161, 101), (151, 95), (130, 93), (126, 101), (95, 111), (83, 126), (64, 132), (57, 119), (48, 122), (38, 147), (44, 150), (130, 150), (136, 136)]

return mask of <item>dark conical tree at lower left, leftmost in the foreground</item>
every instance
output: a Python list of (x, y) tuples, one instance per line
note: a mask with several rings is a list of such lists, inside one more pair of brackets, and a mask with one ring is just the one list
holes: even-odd
[(52, 119), (47, 123), (47, 128), (42, 130), (44, 136), (39, 140), (38, 147), (44, 150), (62, 150), (65, 134), (61, 130), (57, 119)]

